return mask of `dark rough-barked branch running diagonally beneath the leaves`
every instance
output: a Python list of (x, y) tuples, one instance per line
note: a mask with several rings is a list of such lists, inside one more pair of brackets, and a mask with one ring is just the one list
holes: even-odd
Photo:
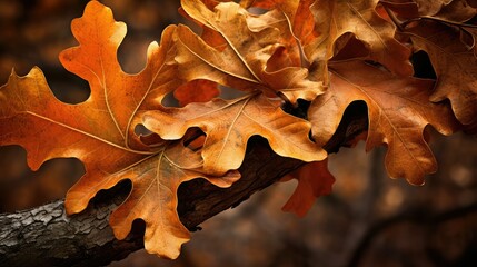
[[(336, 152), (367, 128), (362, 106), (351, 106), (337, 132), (326, 145)], [(242, 178), (221, 189), (197, 179), (179, 188), (178, 212), (190, 230), (216, 214), (249, 198), (301, 161), (277, 156), (266, 140), (250, 140), (240, 167)], [(0, 215), (0, 266), (101, 266), (142, 248), (143, 224), (136, 221), (125, 240), (117, 240), (108, 226), (109, 214), (126, 198), (130, 185), (122, 182), (99, 194), (88, 209), (67, 217), (59, 200), (30, 210)]]

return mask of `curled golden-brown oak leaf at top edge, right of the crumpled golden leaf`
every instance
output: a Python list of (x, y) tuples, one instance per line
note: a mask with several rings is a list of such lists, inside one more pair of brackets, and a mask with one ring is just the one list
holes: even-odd
[[(378, 0), (317, 0), (310, 8), (317, 38), (305, 47), (327, 81), (327, 65), (336, 53), (339, 38), (352, 33), (368, 47), (368, 59), (384, 65), (394, 73), (410, 76), (410, 50), (395, 39), (396, 27), (376, 12)], [(342, 46), (341, 46), (342, 47)]]

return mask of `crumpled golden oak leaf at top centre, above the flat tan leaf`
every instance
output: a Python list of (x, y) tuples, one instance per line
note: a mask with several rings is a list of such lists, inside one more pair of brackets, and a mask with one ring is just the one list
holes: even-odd
[[(200, 0), (182, 0), (185, 12), (222, 39), (218, 49), (185, 26), (177, 29), (177, 57), (181, 78), (206, 79), (239, 90), (285, 95), (291, 102), (312, 100), (322, 83), (308, 79), (300, 49), (285, 14), (278, 10), (250, 14), (233, 2), (213, 11)], [(218, 41), (215, 40), (213, 43)]]

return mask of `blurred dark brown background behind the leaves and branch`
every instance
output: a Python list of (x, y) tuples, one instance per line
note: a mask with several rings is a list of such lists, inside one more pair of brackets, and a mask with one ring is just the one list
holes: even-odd
[[(142, 69), (147, 46), (166, 26), (185, 22), (179, 0), (101, 2), (128, 24), (119, 61), (131, 73)], [(58, 60), (61, 50), (76, 46), (69, 26), (86, 3), (0, 0), (0, 83), (12, 68), (23, 76), (39, 66), (59, 99), (87, 99), (87, 82)], [(177, 260), (139, 250), (110, 266), (477, 266), (476, 138), (431, 140), (439, 170), (425, 186), (389, 179), (385, 149), (366, 154), (360, 142), (330, 156), (334, 192), (302, 219), (280, 210), (296, 182), (277, 184), (203, 222)], [(31, 171), (21, 147), (0, 147), (0, 212), (61, 199), (83, 171), (77, 159), (50, 160)]]

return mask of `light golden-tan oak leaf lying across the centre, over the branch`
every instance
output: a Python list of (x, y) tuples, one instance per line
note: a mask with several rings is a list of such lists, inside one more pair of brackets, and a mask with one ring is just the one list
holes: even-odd
[(166, 140), (180, 139), (189, 128), (200, 128), (207, 135), (203, 169), (217, 176), (240, 167), (247, 141), (256, 135), (265, 137), (280, 156), (304, 161), (325, 159), (326, 151), (308, 138), (310, 123), (286, 113), (280, 106), (280, 100), (261, 93), (233, 100), (213, 99), (185, 108), (148, 111), (143, 125)]

